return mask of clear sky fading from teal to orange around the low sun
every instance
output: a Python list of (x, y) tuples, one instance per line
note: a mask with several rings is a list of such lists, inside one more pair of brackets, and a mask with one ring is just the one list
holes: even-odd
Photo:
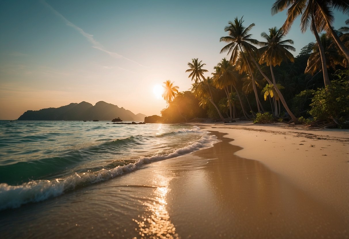
[[(69, 103), (112, 103), (160, 115), (166, 102), (154, 88), (171, 80), (191, 87), (187, 63), (199, 58), (211, 76), (227, 53), (220, 37), (235, 17), (255, 23), (253, 38), (280, 28), (274, 0), (0, 0), (0, 120)], [(349, 16), (335, 12), (334, 27)], [(285, 39), (297, 49), (315, 41), (299, 18)]]

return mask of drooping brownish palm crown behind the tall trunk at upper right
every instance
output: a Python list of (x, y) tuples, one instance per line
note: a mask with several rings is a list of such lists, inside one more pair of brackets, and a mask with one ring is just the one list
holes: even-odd
[[(335, 69), (336, 65), (343, 65), (343, 58), (340, 54), (338, 54), (337, 50), (333, 47), (332, 39), (327, 37), (327, 34), (321, 34), (320, 36), (321, 45), (324, 46), (325, 50), (325, 59), (326, 59), (326, 67)], [(321, 57), (319, 53), (319, 47), (317, 43), (309, 43), (309, 46), (313, 48), (313, 53), (310, 54), (308, 59), (308, 64), (305, 69), (305, 73), (310, 73), (314, 75), (317, 71), (321, 69)]]

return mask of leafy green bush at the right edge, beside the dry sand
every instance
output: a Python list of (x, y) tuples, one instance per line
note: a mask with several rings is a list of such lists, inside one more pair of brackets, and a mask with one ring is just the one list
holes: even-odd
[(318, 89), (309, 113), (314, 120), (334, 121), (339, 128), (349, 128), (349, 71), (337, 71), (331, 86)]

